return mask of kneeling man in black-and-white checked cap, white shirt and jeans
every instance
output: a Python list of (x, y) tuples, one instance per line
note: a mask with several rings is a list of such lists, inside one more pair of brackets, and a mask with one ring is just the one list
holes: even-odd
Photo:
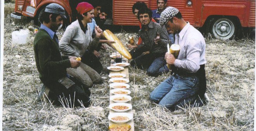
[(206, 91), (204, 37), (174, 7), (167, 7), (161, 13), (160, 25), (176, 34), (175, 44), (180, 45), (180, 53), (175, 58), (166, 52), (165, 60), (173, 65), (173, 75), (151, 92), (150, 99), (171, 111), (179, 106), (202, 106)]

